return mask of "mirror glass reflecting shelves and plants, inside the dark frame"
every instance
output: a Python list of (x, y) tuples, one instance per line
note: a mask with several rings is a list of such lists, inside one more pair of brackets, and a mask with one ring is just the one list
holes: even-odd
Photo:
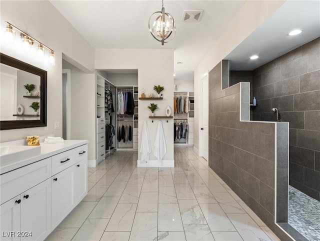
[(0, 120), (40, 119), (40, 76), (1, 63)]

